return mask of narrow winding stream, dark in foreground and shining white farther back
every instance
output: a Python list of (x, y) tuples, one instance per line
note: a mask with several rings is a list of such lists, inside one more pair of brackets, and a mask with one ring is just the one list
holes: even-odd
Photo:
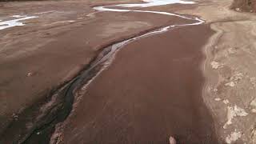
[[(121, 4), (114, 6), (96, 6), (94, 10), (98, 11), (111, 11), (111, 12), (138, 12), (138, 13), (152, 13), (152, 14), (164, 14), (172, 17), (184, 18), (188, 20), (193, 20), (192, 23), (185, 23), (180, 25), (170, 25), (162, 27), (158, 30), (150, 31), (146, 34), (142, 34), (136, 36), (134, 38), (126, 39), (122, 42), (117, 42), (113, 45), (106, 46), (106, 48), (102, 49), (102, 52), (98, 54), (98, 58), (95, 58), (93, 62), (90, 63), (89, 66), (82, 70), (77, 77), (75, 77), (72, 81), (67, 82), (64, 86), (58, 87), (57, 90), (54, 90), (50, 100), (46, 102), (43, 106), (48, 106), (43, 114), (37, 115), (34, 117), (34, 126), (31, 127), (30, 130), (27, 131), (26, 134), (23, 134), (22, 137), (14, 138), (15, 143), (35, 143), (42, 142), (48, 143), (50, 142), (50, 137), (54, 132), (54, 126), (56, 126), (59, 122), (65, 121), (65, 119), (70, 114), (72, 110), (72, 105), (74, 103), (74, 94), (77, 90), (81, 89), (84, 85), (89, 85), (90, 80), (95, 78), (106, 66), (110, 64), (110, 62), (114, 58), (114, 54), (117, 53), (120, 48), (125, 46), (130, 42), (134, 42), (139, 38), (146, 38), (152, 34), (160, 34), (167, 30), (171, 30), (174, 27), (180, 26), (193, 26), (200, 25), (204, 23), (204, 21), (197, 17), (187, 17), (181, 14), (172, 14), (169, 12), (162, 11), (150, 11), (150, 10), (125, 10), (125, 9), (117, 9), (111, 7), (149, 7), (149, 6), (162, 6), (167, 4), (181, 3), (181, 4), (194, 4), (194, 2), (186, 2), (179, 0), (143, 0), (144, 3), (140, 4)], [(49, 106), (50, 103), (50, 106)], [(39, 110), (40, 111), (40, 110)], [(27, 116), (27, 115), (26, 115)], [(29, 115), (30, 116), (30, 115)], [(39, 118), (38, 118), (39, 117)], [(40, 119), (40, 120), (38, 120)], [(56, 142), (55, 139), (51, 139), (51, 143)]]

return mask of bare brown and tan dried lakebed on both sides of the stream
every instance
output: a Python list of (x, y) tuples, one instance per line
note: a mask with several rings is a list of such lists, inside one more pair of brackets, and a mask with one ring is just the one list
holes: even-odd
[[(36, 123), (22, 118), (38, 115), (34, 107), (105, 46), (184, 22), (91, 8), (127, 2), (138, 1), (0, 3), (0, 19), (38, 16), (26, 20), (26, 26), (0, 30), (0, 143), (21, 142)], [(231, 5), (231, 0), (202, 0), (192, 6), (146, 8), (197, 15), (206, 24), (125, 46), (108, 69), (78, 90), (74, 109), (54, 138), (63, 143), (158, 143), (172, 134), (178, 142), (255, 143), (256, 16), (242, 8), (230, 10)]]

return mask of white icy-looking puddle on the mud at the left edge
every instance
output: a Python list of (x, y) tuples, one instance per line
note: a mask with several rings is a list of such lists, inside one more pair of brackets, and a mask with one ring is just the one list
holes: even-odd
[(12, 20), (8, 20), (8, 21), (2, 21), (0, 20), (0, 30), (4, 30), (10, 27), (14, 27), (14, 26), (24, 26), (25, 24), (22, 22), (24, 20), (27, 19), (32, 19), (32, 18), (38, 18), (38, 16), (22, 16), (22, 15), (13, 15), (13, 18), (16, 19), (12, 19)]

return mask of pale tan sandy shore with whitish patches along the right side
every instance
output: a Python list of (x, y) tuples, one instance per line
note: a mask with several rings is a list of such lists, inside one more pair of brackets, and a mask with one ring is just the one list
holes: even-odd
[(180, 11), (201, 15), (215, 34), (204, 47), (203, 98), (223, 143), (255, 143), (255, 14), (242, 13), (232, 1)]

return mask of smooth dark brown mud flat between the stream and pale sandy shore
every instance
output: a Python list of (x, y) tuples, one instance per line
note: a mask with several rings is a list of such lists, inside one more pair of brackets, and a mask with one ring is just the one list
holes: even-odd
[(62, 143), (218, 143), (202, 100), (208, 25), (186, 26), (124, 46), (66, 120)]

